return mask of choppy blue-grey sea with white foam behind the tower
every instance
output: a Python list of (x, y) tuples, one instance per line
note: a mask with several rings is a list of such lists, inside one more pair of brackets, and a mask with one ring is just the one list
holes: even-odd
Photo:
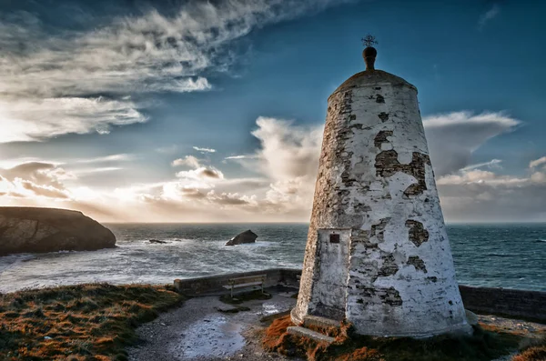
[[(308, 224), (106, 224), (116, 248), (0, 257), (0, 292), (90, 282), (171, 284), (175, 278), (301, 268)], [(255, 244), (225, 246), (251, 229)], [(546, 291), (546, 224), (448, 225), (461, 285)], [(150, 239), (165, 244), (150, 244)]]

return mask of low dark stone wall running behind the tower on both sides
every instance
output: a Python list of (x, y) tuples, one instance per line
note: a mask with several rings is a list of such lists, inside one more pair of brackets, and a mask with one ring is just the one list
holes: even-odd
[[(262, 271), (242, 272), (220, 276), (207, 276), (175, 280), (178, 292), (187, 296), (219, 295), (226, 293), (222, 287), (229, 278), (266, 275), (266, 286), (299, 286), (301, 270), (272, 268)], [(546, 323), (546, 292), (519, 289), (459, 286), (465, 308), (477, 314), (525, 318)]]

